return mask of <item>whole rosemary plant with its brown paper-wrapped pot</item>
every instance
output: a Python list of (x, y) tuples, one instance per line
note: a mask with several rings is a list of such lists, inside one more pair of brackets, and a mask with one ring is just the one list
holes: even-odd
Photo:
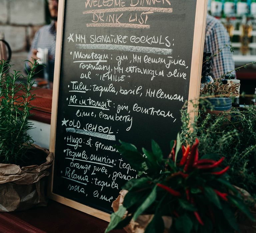
[(37, 66), (35, 61), (23, 77), (20, 72), (8, 73), (11, 65), (0, 60), (0, 211), (4, 212), (46, 205), (45, 181), (53, 154), (34, 145), (28, 134), (33, 127), (29, 116)]

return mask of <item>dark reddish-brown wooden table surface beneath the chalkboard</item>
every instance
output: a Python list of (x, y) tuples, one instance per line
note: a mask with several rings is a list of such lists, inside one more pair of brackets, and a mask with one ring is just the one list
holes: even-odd
[[(49, 200), (47, 207), (0, 213), (1, 233), (104, 233), (108, 222)], [(114, 230), (113, 233), (125, 233)]]

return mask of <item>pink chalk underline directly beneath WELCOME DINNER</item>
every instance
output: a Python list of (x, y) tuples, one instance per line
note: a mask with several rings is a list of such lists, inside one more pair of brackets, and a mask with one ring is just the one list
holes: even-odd
[(160, 7), (117, 7), (117, 8), (107, 8), (107, 9), (97, 9), (84, 11), (83, 14), (92, 13), (108, 13), (108, 12), (120, 12), (120, 11), (153, 11), (161, 13), (172, 13), (172, 8), (160, 8)]

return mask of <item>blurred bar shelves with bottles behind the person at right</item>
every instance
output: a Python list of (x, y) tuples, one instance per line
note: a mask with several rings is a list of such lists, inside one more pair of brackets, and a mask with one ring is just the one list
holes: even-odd
[[(256, 61), (256, 0), (208, 0), (208, 13), (226, 27), (234, 47), (235, 66)], [(254, 94), (256, 67), (249, 65), (236, 73), (241, 80), (240, 93)]]

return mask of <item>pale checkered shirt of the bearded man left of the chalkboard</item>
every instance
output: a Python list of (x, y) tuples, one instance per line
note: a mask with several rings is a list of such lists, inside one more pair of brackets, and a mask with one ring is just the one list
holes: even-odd
[(56, 30), (54, 21), (51, 24), (41, 27), (35, 34), (28, 59), (31, 57), (32, 49), (48, 49), (49, 55), (49, 81), (53, 81), (54, 60), (55, 60)]

